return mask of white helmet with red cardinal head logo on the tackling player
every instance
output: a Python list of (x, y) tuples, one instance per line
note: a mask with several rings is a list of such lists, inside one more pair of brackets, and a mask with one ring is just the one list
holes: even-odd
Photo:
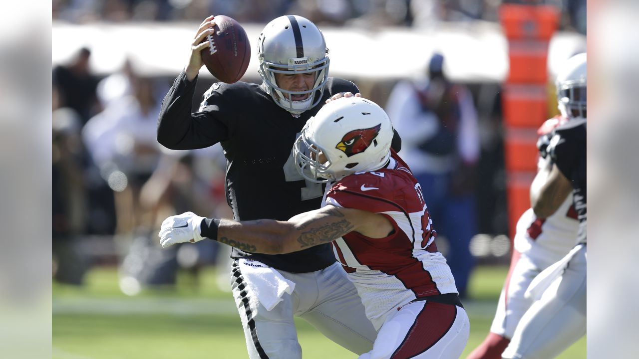
[(316, 183), (375, 171), (389, 161), (392, 139), (392, 123), (380, 106), (361, 97), (338, 98), (302, 129), (293, 146), (296, 169)]

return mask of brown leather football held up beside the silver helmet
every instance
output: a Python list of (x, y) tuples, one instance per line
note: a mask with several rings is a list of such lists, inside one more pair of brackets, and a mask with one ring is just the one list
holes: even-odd
[(206, 36), (209, 46), (202, 50), (202, 62), (216, 79), (233, 84), (239, 81), (250, 61), (246, 31), (231, 17), (215, 15), (214, 33)]

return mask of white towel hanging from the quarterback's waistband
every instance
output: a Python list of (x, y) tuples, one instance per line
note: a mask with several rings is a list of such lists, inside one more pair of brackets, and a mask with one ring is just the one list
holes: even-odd
[(284, 278), (275, 268), (247, 258), (240, 258), (238, 262), (242, 276), (254, 294), (249, 299), (252, 305), (259, 302), (266, 310), (271, 310), (282, 302), (284, 293), (293, 293), (295, 283)]

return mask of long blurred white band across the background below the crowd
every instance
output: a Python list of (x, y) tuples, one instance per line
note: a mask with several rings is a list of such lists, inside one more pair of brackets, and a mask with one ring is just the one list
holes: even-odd
[[(91, 66), (98, 74), (120, 68), (128, 56), (144, 75), (176, 75), (189, 56), (197, 24), (190, 22), (52, 24), (52, 64), (68, 61), (82, 46), (93, 54)], [(245, 24), (252, 43), (252, 58), (244, 77), (258, 78), (255, 44), (263, 24)], [(502, 82), (508, 69), (507, 40), (493, 22), (447, 22), (435, 29), (361, 29), (323, 27), (330, 50), (330, 73), (339, 77), (371, 80), (420, 77), (433, 51), (446, 57), (445, 71), (460, 82)], [(557, 65), (585, 50), (585, 36), (557, 33), (550, 43), (551, 75)], [(211, 75), (203, 68), (201, 75)]]

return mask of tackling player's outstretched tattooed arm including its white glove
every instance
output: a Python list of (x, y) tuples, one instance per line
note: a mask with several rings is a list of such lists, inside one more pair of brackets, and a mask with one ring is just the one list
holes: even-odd
[(208, 237), (246, 252), (283, 254), (330, 243), (351, 231), (383, 238), (392, 231), (392, 225), (376, 213), (329, 205), (286, 222), (211, 220), (187, 212), (164, 220), (159, 236), (165, 248)]

